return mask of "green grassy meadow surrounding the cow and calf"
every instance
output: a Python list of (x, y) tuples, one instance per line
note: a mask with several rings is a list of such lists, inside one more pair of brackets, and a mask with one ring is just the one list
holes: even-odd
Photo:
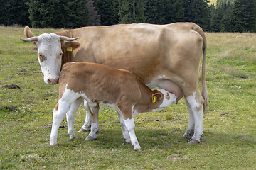
[[(77, 138), (69, 139), (63, 120), (58, 147), (50, 147), (58, 86), (43, 82), (35, 46), (18, 39), (24, 38), (23, 28), (0, 30), (0, 169), (255, 169), (256, 34), (206, 33), (210, 109), (203, 115), (203, 142), (188, 145), (182, 137), (188, 111), (181, 99), (176, 106), (134, 116), (142, 147), (134, 152), (124, 144), (117, 113), (105, 106), (100, 108), (97, 140), (85, 141), (88, 132), (78, 132), (85, 119), (80, 106)], [(21, 89), (3, 88), (11, 84)]]

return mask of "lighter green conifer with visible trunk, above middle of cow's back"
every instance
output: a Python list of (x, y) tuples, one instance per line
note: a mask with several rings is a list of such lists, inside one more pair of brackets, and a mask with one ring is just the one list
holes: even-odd
[(144, 23), (144, 0), (118, 0), (119, 23)]

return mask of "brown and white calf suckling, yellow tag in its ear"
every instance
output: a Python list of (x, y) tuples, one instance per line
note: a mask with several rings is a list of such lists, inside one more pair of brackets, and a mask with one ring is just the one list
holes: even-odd
[(176, 95), (164, 89), (151, 90), (127, 70), (113, 69), (102, 64), (72, 62), (64, 64), (60, 72), (59, 101), (53, 109), (53, 125), (50, 145), (57, 145), (58, 127), (67, 113), (68, 134), (75, 137), (75, 113), (83, 99), (92, 111), (92, 128), (86, 140), (95, 140), (99, 131), (99, 103), (117, 110), (123, 137), (140, 150), (134, 132), (132, 115), (159, 111), (176, 103)]

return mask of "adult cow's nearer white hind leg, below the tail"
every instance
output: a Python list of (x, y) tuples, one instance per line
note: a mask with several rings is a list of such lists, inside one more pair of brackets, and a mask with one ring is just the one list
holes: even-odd
[[(198, 94), (194, 92), (191, 96), (186, 96), (186, 101), (187, 104), (191, 107), (195, 123), (193, 136), (191, 137), (191, 140), (188, 141), (188, 143), (199, 143), (200, 137), (203, 135), (203, 98), (198, 91)], [(188, 128), (191, 128), (192, 125), (192, 123), (188, 123)], [(190, 130), (192, 130), (192, 128)]]

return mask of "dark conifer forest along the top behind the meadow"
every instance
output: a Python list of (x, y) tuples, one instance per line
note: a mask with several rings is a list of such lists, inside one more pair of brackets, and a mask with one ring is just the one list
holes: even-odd
[(255, 0), (0, 0), (0, 25), (80, 28), (197, 23), (208, 32), (256, 32)]

